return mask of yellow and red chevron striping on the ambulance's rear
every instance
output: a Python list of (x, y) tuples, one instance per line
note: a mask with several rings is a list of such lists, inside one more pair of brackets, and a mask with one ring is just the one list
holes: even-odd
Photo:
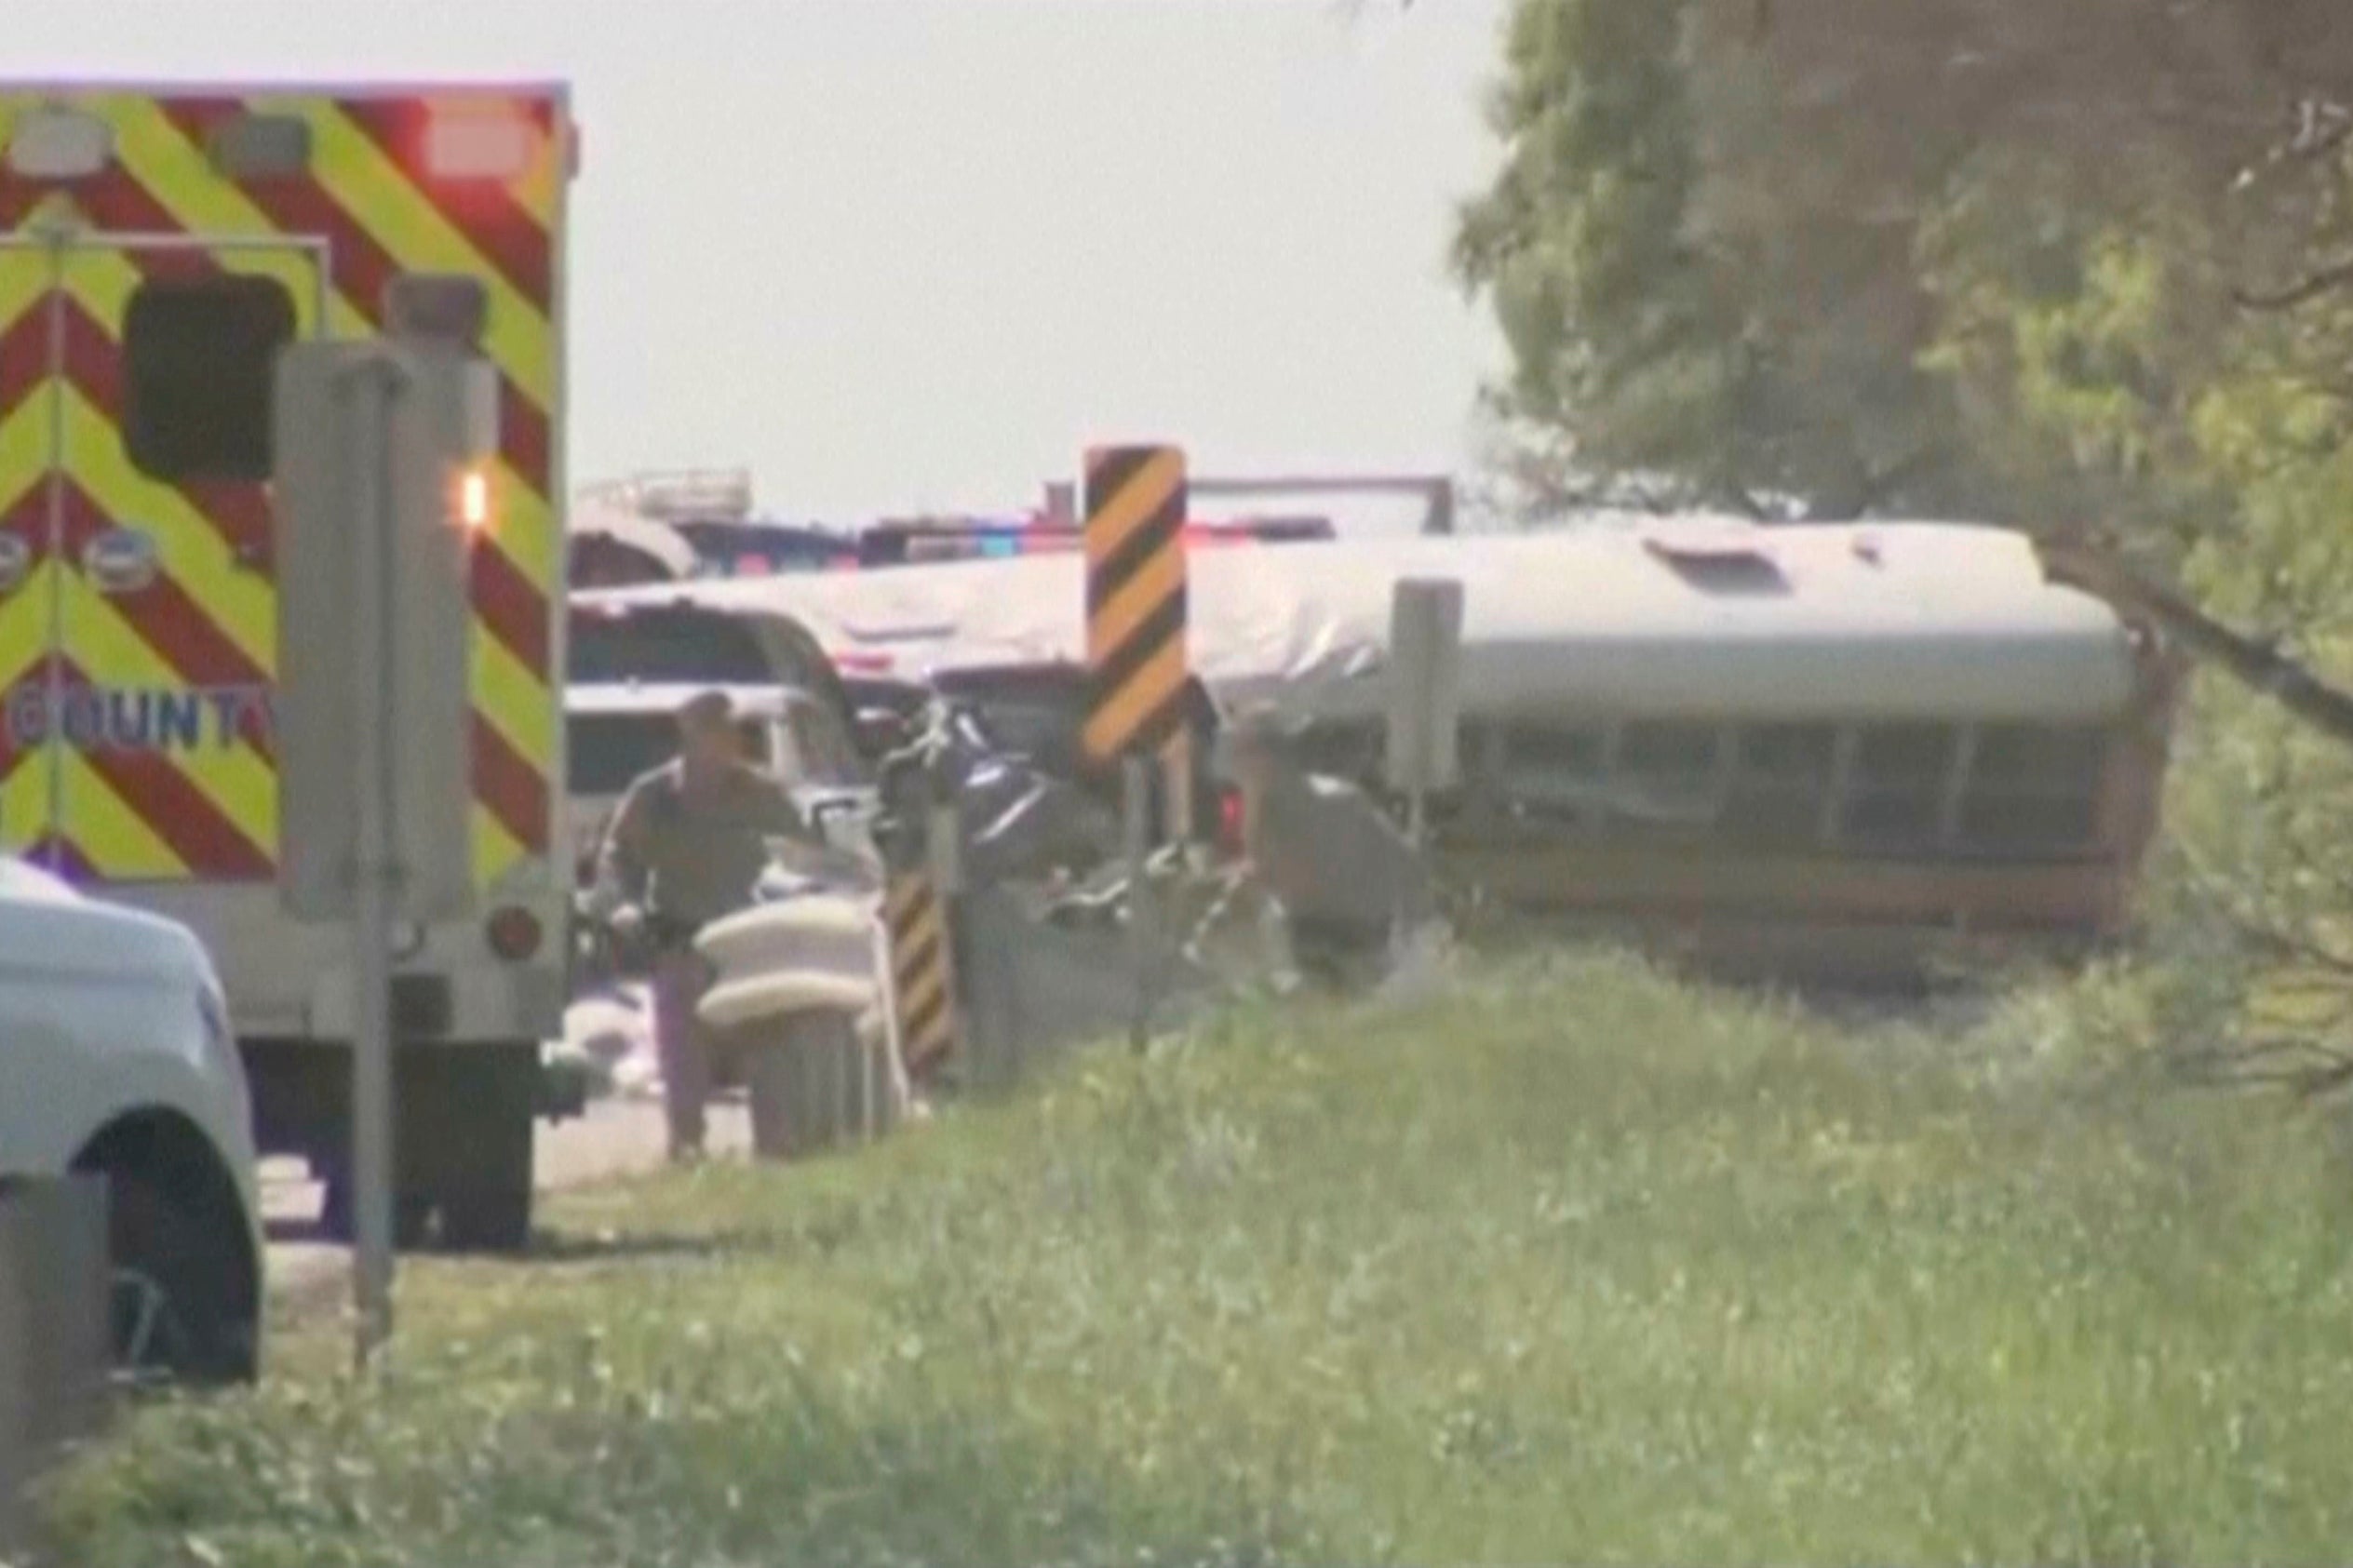
[[(482, 89), (466, 96), (473, 106), (485, 101)], [(56, 101), (56, 94), (38, 99)], [(315, 327), (362, 336), (381, 327), (386, 284), (400, 273), (471, 273), (489, 289), (485, 353), (501, 376), (499, 527), (475, 552), (473, 574), (475, 858), (489, 879), (525, 856), (546, 853), (560, 726), (551, 607), (562, 592), (551, 428), (560, 388), (555, 230), (567, 132), (555, 99), (496, 94), (501, 113), (536, 129), (541, 153), (515, 181), (466, 186), (435, 186), (428, 176), (424, 148), (433, 106), (416, 94), (89, 92), (64, 99), (104, 115), (115, 141), (104, 174), (66, 186), (92, 235), (87, 249), (66, 252), (59, 282), (64, 355), (49, 346), (47, 292), (28, 296), (0, 275), (0, 491), (28, 489), (0, 501), (0, 515), (12, 529), (47, 541), (56, 501), (47, 480), (19, 465), (21, 447), (7, 440), (16, 416), (45, 404), (38, 388), (26, 386), (26, 367), (33, 367), (31, 381), (47, 371), (47, 390), (64, 409), (59, 491), (68, 548), (56, 559), (42, 550), (38, 567), (54, 574), (42, 578), (52, 592), (66, 585), (64, 635), (49, 649), (56, 663), (28, 663), (9, 604), (49, 595), (35, 595), (28, 581), (0, 599), (0, 693), (24, 679), (89, 679), (111, 691), (240, 689), (266, 684), (275, 670), (268, 574), (252, 569), (268, 541), (259, 487), (158, 484), (122, 456), (120, 322), (139, 282), (174, 268), (271, 273), (287, 282), (308, 317), (313, 289), (301, 275), (308, 261), (294, 249), (308, 247), (327, 261), (327, 320)], [(35, 94), (0, 89), (0, 122), (31, 101)], [(212, 165), (209, 136), (247, 110), (308, 125), (306, 172), (238, 181)], [(21, 226), (52, 195), (0, 174), (0, 230)], [(106, 247), (104, 235), (139, 235), (146, 244)], [(153, 244), (174, 235), (184, 244)], [(287, 240), (289, 247), (256, 249), (256, 240)], [(61, 362), (49, 364), (52, 357)], [(87, 531), (132, 517), (162, 538), (158, 583), (118, 599), (87, 588), (75, 592), (75, 550)], [(12, 656), (21, 665), (14, 672)], [(49, 827), (66, 844), (52, 849), (68, 865), (78, 858), (106, 877), (268, 875), (275, 778), (266, 729), (247, 719), (252, 715), (235, 722), (233, 743), (198, 752), (78, 750), (66, 771), (89, 776), (64, 780), (66, 820)], [(0, 825), (12, 842), (24, 842), (16, 830), (35, 813), (35, 790), (12, 788), (19, 773), (40, 769), (19, 762), (12, 771), (0, 752)]]

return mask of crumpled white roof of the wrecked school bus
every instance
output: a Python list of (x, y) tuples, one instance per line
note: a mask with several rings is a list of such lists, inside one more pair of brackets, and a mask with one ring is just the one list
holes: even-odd
[[(2075, 722), (2134, 689), (2113, 609), (2047, 583), (2033, 543), (1981, 524), (1619, 517), (1464, 534), (1202, 550), (1191, 663), (1233, 708), (1379, 712), (1391, 592), (1464, 583), (1464, 698), (1489, 710), (1657, 717)], [(1078, 555), (826, 578), (626, 588), (800, 618), (849, 668), (1080, 663)]]

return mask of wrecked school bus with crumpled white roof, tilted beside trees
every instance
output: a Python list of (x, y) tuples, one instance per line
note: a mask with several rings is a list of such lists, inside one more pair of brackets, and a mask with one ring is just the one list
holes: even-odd
[[(1402, 576), (1466, 590), (1464, 785), (1431, 818), (1457, 889), (1788, 978), (2071, 954), (2125, 919), (2179, 665), (2021, 534), (1617, 520), (1214, 550), (1193, 668), (1377, 788)], [(1059, 691), (1075, 724), (1075, 557), (708, 592), (852, 668)]]

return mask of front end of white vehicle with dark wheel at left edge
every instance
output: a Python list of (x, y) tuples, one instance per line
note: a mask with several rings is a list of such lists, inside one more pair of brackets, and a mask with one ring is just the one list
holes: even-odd
[(108, 1178), (118, 1366), (252, 1378), (252, 1103), (212, 959), (0, 856), (0, 1178), (66, 1173)]

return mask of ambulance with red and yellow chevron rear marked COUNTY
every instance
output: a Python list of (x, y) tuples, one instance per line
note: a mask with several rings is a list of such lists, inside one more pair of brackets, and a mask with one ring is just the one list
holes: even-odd
[(348, 1222), (351, 973), (278, 900), (271, 383), (299, 339), (499, 374), (473, 550), (478, 914), (402, 933), (400, 1232), (513, 1248), (560, 1032), (560, 85), (0, 82), (0, 851), (193, 929), (256, 1143)]

